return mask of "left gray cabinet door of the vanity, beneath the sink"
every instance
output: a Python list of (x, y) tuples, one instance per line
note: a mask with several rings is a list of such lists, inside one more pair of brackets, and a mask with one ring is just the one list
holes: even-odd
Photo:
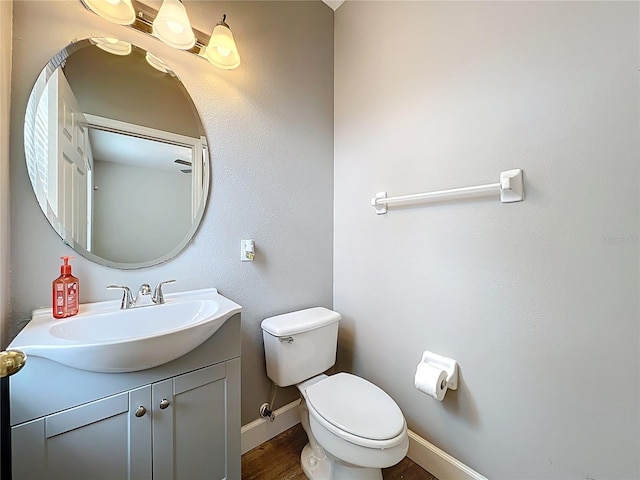
[(151, 479), (151, 387), (12, 429), (14, 480)]

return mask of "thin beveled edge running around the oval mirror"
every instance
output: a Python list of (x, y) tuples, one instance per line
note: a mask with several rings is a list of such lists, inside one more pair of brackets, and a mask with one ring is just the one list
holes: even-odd
[[(48, 82), (49, 78), (51, 77), (51, 75), (53, 75), (53, 73), (59, 67), (64, 65), (65, 61), (67, 60), (67, 58), (72, 53), (74, 53), (74, 52), (76, 52), (76, 51), (78, 51), (78, 50), (80, 50), (82, 48), (87, 48), (87, 47), (98, 48), (98, 47), (96, 47), (96, 42), (92, 38), (73, 40), (71, 44), (67, 45), (65, 48), (60, 50), (56, 55), (54, 55), (54, 57), (51, 60), (49, 60), (49, 62), (44, 66), (44, 68), (38, 73), (38, 78), (42, 74), (42, 72), (46, 72), (45, 73), (46, 81)], [(145, 53), (147, 52), (143, 48), (138, 47), (138, 46), (133, 45), (133, 44), (131, 45), (131, 47), (134, 50), (138, 50), (138, 51), (145, 52)], [(200, 224), (202, 223), (202, 219), (204, 217), (205, 210), (206, 210), (207, 205), (209, 203), (209, 192), (211, 190), (211, 183), (212, 183), (212, 178), (211, 178), (211, 170), (212, 169), (211, 169), (211, 159), (210, 159), (210, 155), (209, 155), (209, 140), (208, 140), (206, 132), (204, 130), (204, 125), (202, 123), (202, 117), (200, 116), (199, 112), (197, 111), (197, 108), (195, 106), (195, 103), (194, 103), (191, 95), (187, 91), (186, 87), (184, 86), (184, 84), (182, 83), (180, 78), (172, 70), (168, 70), (166, 73), (168, 73), (169, 75), (171, 75), (172, 77), (174, 77), (178, 81), (179, 88), (182, 89), (185, 97), (190, 99), (190, 105), (192, 106), (193, 114), (194, 114), (195, 118), (198, 120), (200, 136), (201, 136), (202, 139), (204, 139), (203, 159), (202, 159), (202, 163), (203, 163), (203, 165), (202, 165), (202, 182), (203, 182), (202, 200), (200, 202), (200, 205), (198, 206), (196, 214), (193, 216), (193, 221), (191, 223), (191, 227), (185, 233), (185, 235), (182, 238), (182, 240), (174, 248), (172, 248), (170, 251), (168, 251), (166, 254), (164, 254), (164, 255), (162, 255), (160, 257), (151, 259), (151, 260), (143, 261), (143, 262), (135, 262), (135, 263), (134, 262), (130, 262), (130, 263), (129, 262), (117, 262), (117, 261), (112, 261), (112, 260), (108, 260), (108, 259), (99, 257), (95, 253), (87, 251), (82, 246), (77, 245), (72, 239), (71, 240), (65, 239), (63, 237), (62, 233), (59, 232), (58, 229), (56, 229), (56, 227), (51, 223), (51, 221), (47, 217), (46, 213), (42, 210), (42, 206), (40, 205), (40, 202), (39, 202), (39, 200), (37, 198), (33, 182), (31, 181), (31, 177), (30, 177), (29, 173), (27, 172), (27, 177), (29, 178), (29, 183), (31, 185), (32, 192), (34, 194), (34, 200), (36, 201), (36, 204), (38, 205), (38, 208), (39, 208), (40, 212), (44, 215), (45, 219), (47, 220), (47, 223), (49, 223), (51, 228), (62, 239), (62, 241), (63, 241), (63, 243), (65, 245), (68, 245), (70, 248), (72, 248), (79, 255), (82, 255), (83, 257), (87, 258), (88, 260), (91, 260), (92, 262), (97, 263), (99, 265), (104, 265), (104, 266), (107, 266), (107, 267), (116, 268), (116, 269), (122, 269), (122, 270), (133, 270), (133, 269), (140, 269), (140, 268), (145, 268), (145, 267), (152, 267), (152, 266), (155, 266), (155, 265), (159, 265), (161, 263), (165, 263), (168, 260), (171, 260), (172, 258), (177, 256), (180, 252), (182, 252), (182, 250), (184, 250), (184, 248), (191, 242), (191, 240), (193, 239), (195, 233), (200, 228)], [(23, 128), (23, 142), (24, 142), (23, 151), (24, 151), (24, 155), (25, 155), (25, 168), (27, 168), (27, 170), (28, 170), (28, 160), (27, 160), (27, 148), (26, 148), (26, 145), (27, 145), (26, 118), (27, 118), (27, 112), (30, 110), (30, 108), (32, 106), (32, 102), (35, 102), (36, 108), (37, 108), (37, 106), (39, 105), (40, 100), (42, 98), (42, 92), (35, 92), (34, 91), (34, 87), (36, 85), (36, 82), (37, 82), (38, 78), (36, 78), (32, 88), (31, 88), (31, 92), (29, 94), (29, 99), (28, 99), (28, 102), (27, 102), (27, 105), (26, 105), (25, 114), (24, 114), (25, 121), (24, 121), (24, 128)]]

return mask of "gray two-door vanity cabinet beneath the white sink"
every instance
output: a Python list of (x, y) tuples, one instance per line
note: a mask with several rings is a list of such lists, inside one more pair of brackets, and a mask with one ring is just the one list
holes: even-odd
[[(91, 401), (12, 422), (14, 480), (240, 479), (239, 315), (236, 317), (227, 321), (229, 328), (223, 326), (192, 353), (143, 372), (92, 374), (29, 358), (28, 365), (35, 363), (49, 378), (51, 371), (58, 374), (57, 382), (47, 382), (57, 389), (45, 387), (49, 395), (33, 402), (45, 404), (45, 410), (47, 397), (57, 405), (66, 389), (85, 392), (86, 398), (87, 389), (101, 384), (98, 380), (106, 382), (107, 388), (96, 392), (100, 397)], [(216, 338), (219, 334), (237, 339), (236, 347), (220, 345), (224, 341)], [(227, 358), (206, 364), (207, 359), (220, 356)], [(39, 376), (35, 368), (33, 371)], [(184, 373), (176, 374), (180, 371)], [(66, 379), (69, 375), (72, 378)], [(103, 395), (110, 382), (126, 384), (126, 377), (132, 377), (131, 388)], [(92, 381), (87, 384), (83, 379)], [(144, 379), (157, 381), (135, 385)], [(33, 393), (33, 385), (31, 391), (20, 386), (16, 392), (12, 384), (12, 408), (24, 407), (19, 395)], [(68, 393), (71, 398), (76, 396), (71, 390)], [(25, 411), (18, 408), (17, 415)]]

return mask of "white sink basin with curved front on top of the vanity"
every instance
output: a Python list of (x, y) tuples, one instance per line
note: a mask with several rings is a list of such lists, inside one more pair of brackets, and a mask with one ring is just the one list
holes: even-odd
[(33, 312), (9, 348), (92, 372), (157, 367), (189, 353), (242, 307), (215, 288), (165, 294), (163, 305), (120, 310), (120, 301), (85, 303), (78, 315)]

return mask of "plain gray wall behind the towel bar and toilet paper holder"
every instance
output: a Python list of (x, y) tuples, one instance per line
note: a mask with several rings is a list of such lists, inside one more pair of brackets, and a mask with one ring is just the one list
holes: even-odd
[[(360, 2), (335, 14), (341, 366), (493, 479), (638, 478), (637, 2)], [(526, 199), (369, 198), (493, 183)], [(457, 359), (442, 403), (423, 350)]]

